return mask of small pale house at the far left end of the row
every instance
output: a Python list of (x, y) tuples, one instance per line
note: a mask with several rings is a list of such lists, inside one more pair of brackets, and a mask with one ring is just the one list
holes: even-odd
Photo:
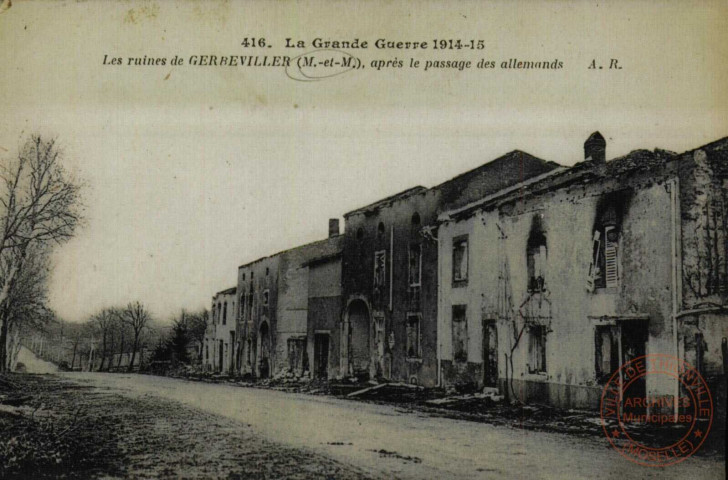
[(235, 355), (236, 287), (222, 290), (212, 297), (210, 319), (205, 331), (202, 363), (213, 372), (229, 373)]

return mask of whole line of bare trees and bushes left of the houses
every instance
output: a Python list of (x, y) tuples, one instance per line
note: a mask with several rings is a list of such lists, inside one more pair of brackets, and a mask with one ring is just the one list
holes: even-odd
[[(140, 302), (104, 308), (83, 323), (60, 320), (48, 308), (52, 249), (83, 221), (83, 185), (62, 158), (55, 139), (33, 135), (17, 157), (0, 162), (0, 373), (13, 368), (24, 341), (45, 345), (44, 358), (70, 368), (85, 357), (88, 368), (119, 369), (124, 358), (131, 370), (150, 345), (160, 358), (201, 360), (204, 310), (183, 311), (165, 331)], [(198, 358), (188, 358), (190, 350)]]

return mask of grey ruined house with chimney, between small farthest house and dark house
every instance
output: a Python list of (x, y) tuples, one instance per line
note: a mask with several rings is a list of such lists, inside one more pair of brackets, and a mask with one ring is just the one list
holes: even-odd
[[(334, 333), (327, 319), (340, 316), (340, 309), (336, 310), (340, 300), (336, 299), (341, 274), (340, 269), (324, 265), (341, 251), (339, 237), (338, 220), (332, 220), (327, 239), (238, 267), (236, 332), (242, 341), (236, 345), (236, 372), (256, 378), (288, 373), (303, 376), (311, 373), (312, 355), (319, 360), (333, 357), (335, 346), (324, 335)], [(334, 278), (316, 281), (317, 275), (329, 274)], [(310, 333), (309, 326), (313, 328)], [(325, 365), (323, 375), (328, 376), (328, 360)]]

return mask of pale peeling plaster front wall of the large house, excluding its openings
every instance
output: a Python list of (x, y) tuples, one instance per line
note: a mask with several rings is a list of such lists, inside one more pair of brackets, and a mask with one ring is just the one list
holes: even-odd
[[(669, 175), (668, 175), (669, 176)], [(675, 352), (671, 322), (670, 192), (667, 180), (638, 175), (571, 186), (441, 226), (440, 358), (446, 384), (483, 384), (483, 321), (498, 331), (498, 377), (513, 379), (516, 396), (538, 396), (564, 406), (594, 407), (600, 394), (595, 371), (595, 328), (649, 319), (646, 353)], [(619, 241), (619, 286), (587, 289), (599, 199), (630, 188)], [(536, 217), (538, 220), (536, 220)], [(534, 221), (546, 237), (544, 290), (529, 293), (527, 244)], [(452, 239), (468, 235), (467, 285), (453, 286)], [(467, 363), (454, 362), (453, 305), (465, 305)], [(529, 328), (524, 317), (547, 329), (546, 369), (529, 372)], [(622, 319), (622, 320), (619, 320)], [(630, 320), (626, 320), (630, 319)], [(529, 322), (531, 323), (531, 322)], [(515, 345), (513, 351), (511, 348)], [(568, 354), (566, 353), (568, 352)], [(512, 370), (510, 362), (513, 362)], [(510, 387), (509, 387), (510, 388)], [(649, 391), (670, 394), (668, 384), (648, 381)]]

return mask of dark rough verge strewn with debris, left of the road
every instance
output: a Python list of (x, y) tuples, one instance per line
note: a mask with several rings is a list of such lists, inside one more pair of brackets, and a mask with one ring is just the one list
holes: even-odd
[(53, 376), (8, 377), (30, 400), (0, 408), (2, 479), (371, 478), (171, 400), (127, 398)]

